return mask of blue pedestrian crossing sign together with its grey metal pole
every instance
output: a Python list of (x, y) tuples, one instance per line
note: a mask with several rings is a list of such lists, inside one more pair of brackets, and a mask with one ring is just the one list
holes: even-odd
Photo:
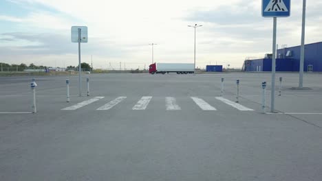
[(261, 14), (263, 17), (273, 18), (273, 40), (272, 40), (272, 87), (270, 112), (275, 112), (275, 71), (276, 71), (276, 38), (277, 17), (290, 16), (290, 0), (262, 0)]

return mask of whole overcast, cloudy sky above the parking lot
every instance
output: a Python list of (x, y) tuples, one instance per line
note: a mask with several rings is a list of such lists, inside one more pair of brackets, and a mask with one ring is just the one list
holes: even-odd
[[(292, 0), (291, 16), (277, 21), (277, 43), (301, 43), (302, 1)], [(322, 41), (322, 1), (308, 1), (305, 43)], [(246, 57), (272, 51), (272, 19), (261, 16), (261, 0), (1, 0), (0, 62), (67, 67), (78, 64), (72, 25), (88, 27), (82, 62), (95, 68), (144, 68), (155, 62), (193, 63), (197, 28), (197, 67), (239, 68)]]

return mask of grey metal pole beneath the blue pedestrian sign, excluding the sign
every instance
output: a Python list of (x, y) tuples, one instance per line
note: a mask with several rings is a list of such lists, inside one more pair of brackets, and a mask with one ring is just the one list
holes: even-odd
[(274, 17), (273, 22), (273, 43), (272, 43), (272, 90), (270, 101), (270, 112), (275, 111), (275, 73), (276, 73), (276, 34), (277, 34), (277, 17)]

